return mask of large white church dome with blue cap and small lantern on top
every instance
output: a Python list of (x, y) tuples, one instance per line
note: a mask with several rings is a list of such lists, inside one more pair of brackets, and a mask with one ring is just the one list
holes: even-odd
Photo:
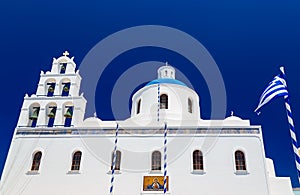
[(131, 118), (139, 120), (199, 120), (199, 96), (176, 80), (175, 69), (166, 64), (158, 69), (158, 78), (132, 97)]

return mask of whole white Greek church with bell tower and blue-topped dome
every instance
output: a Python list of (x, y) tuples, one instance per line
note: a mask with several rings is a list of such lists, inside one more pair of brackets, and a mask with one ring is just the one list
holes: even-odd
[(198, 94), (172, 66), (133, 95), (123, 121), (85, 118), (81, 79), (66, 52), (25, 95), (1, 195), (293, 194), (265, 157), (261, 126), (201, 119)]

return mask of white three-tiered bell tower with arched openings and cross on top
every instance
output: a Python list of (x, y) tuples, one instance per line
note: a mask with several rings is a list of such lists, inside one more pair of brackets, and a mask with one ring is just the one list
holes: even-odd
[(36, 94), (24, 97), (18, 127), (74, 127), (82, 123), (86, 100), (79, 95), (81, 76), (65, 51), (41, 71)]

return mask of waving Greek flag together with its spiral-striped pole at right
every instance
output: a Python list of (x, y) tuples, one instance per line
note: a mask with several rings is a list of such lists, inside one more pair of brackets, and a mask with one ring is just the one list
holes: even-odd
[(283, 67), (280, 67), (280, 74), (275, 76), (275, 78), (269, 83), (268, 87), (260, 96), (259, 104), (255, 109), (255, 112), (259, 114), (260, 109), (264, 105), (266, 105), (268, 102), (270, 102), (271, 100), (277, 97), (284, 97), (285, 108), (286, 108), (291, 140), (292, 140), (292, 147), (293, 147), (294, 157), (295, 157), (295, 164), (297, 168), (298, 182), (300, 183), (300, 155), (298, 153), (298, 142), (296, 138), (295, 126), (294, 126), (292, 110), (291, 110), (290, 100), (289, 100), (289, 92), (287, 90), (287, 83), (285, 80)]

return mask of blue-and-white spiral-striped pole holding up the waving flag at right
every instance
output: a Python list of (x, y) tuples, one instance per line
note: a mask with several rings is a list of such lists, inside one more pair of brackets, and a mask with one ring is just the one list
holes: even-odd
[[(283, 75), (285, 76), (284, 68), (280, 67), (280, 70), (283, 73)], [(290, 129), (292, 146), (293, 146), (293, 151), (294, 151), (295, 164), (296, 164), (296, 168), (297, 168), (298, 182), (300, 184), (300, 155), (298, 152), (299, 146), (298, 146), (298, 142), (297, 142), (294, 120), (293, 120), (292, 110), (291, 110), (291, 106), (290, 106), (290, 99), (289, 99), (288, 95), (284, 96), (284, 101), (285, 101), (286, 114), (287, 114), (287, 118), (288, 118), (288, 122), (289, 122), (289, 129)]]

